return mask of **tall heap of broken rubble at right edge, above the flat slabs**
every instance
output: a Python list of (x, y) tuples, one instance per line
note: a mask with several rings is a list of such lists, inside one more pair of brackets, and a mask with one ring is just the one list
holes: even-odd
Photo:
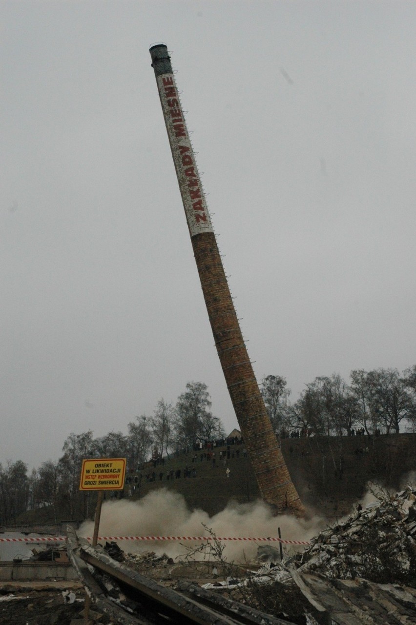
[(416, 582), (416, 489), (358, 506), (344, 522), (311, 540), (293, 564), (298, 572), (339, 579), (364, 577), (378, 583)]

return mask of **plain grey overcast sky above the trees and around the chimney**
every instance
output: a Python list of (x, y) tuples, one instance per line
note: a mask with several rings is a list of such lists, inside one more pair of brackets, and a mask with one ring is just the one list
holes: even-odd
[(216, 356), (166, 42), (258, 381), (416, 362), (416, 2), (1, 1), (0, 461), (127, 432)]

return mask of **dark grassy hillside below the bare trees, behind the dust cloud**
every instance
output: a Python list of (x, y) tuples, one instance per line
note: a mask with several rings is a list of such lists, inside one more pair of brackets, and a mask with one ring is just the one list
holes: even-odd
[[(293, 482), (305, 504), (328, 517), (340, 516), (363, 496), (368, 481), (399, 489), (405, 474), (416, 471), (416, 435), (312, 437), (283, 439), (282, 452)], [(223, 462), (215, 449), (216, 462), (196, 452), (165, 459), (165, 464), (148, 463), (139, 474), (131, 474), (132, 497), (145, 496), (152, 489), (165, 487), (180, 492), (191, 508), (200, 507), (211, 516), (221, 511), (230, 499), (245, 503), (260, 497), (250, 460), (243, 445), (231, 446)], [(206, 452), (206, 450), (204, 450)], [(238, 454), (237, 454), (238, 451)], [(190, 477), (183, 477), (184, 469)], [(230, 468), (230, 477), (226, 468)], [(193, 476), (195, 469), (196, 476)], [(181, 477), (175, 476), (181, 471)], [(146, 476), (155, 473), (155, 481)], [(162, 474), (160, 479), (160, 474)], [(137, 482), (134, 480), (137, 478)], [(125, 496), (128, 496), (126, 487)]]

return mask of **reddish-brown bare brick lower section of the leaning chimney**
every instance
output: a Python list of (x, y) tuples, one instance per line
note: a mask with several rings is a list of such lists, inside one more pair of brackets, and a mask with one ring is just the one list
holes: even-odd
[(302, 514), (241, 334), (215, 234), (191, 238), (215, 346), (253, 471), (266, 502)]

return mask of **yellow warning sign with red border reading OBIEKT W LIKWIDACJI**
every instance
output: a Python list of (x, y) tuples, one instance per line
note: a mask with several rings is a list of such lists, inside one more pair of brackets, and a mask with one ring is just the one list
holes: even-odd
[(126, 458), (83, 460), (80, 491), (117, 491), (124, 488)]

